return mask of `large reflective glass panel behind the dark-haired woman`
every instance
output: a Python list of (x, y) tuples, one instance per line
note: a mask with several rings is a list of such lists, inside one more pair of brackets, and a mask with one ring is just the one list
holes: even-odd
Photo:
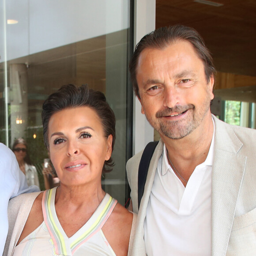
[(26, 140), (44, 189), (42, 103), (64, 84), (87, 83), (117, 117), (116, 165), (102, 185), (124, 204), (129, 1), (0, 0), (0, 15), (0, 141)]

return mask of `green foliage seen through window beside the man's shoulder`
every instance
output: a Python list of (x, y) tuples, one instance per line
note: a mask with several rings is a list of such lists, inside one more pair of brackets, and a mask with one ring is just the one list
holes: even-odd
[(228, 124), (240, 125), (241, 102), (225, 102), (225, 122)]

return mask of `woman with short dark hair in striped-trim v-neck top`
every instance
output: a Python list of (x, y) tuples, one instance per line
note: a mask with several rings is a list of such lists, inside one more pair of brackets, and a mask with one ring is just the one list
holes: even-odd
[(14, 229), (4, 255), (128, 254), (136, 217), (101, 187), (102, 172), (113, 166), (115, 122), (104, 94), (87, 86), (67, 85), (49, 96), (42, 111), (44, 142), (60, 187), (11, 200)]

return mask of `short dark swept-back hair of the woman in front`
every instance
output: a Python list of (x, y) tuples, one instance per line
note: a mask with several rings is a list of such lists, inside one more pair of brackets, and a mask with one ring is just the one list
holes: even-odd
[[(49, 150), (48, 125), (52, 115), (63, 109), (88, 106), (93, 109), (100, 118), (105, 137), (113, 136), (112, 152), (116, 139), (116, 118), (113, 110), (106, 102), (105, 95), (100, 91), (89, 89), (87, 85), (76, 87), (73, 84), (62, 86), (55, 93), (49, 95), (43, 104), (42, 124), (44, 143)], [(102, 172), (110, 172), (114, 166), (112, 158), (105, 161)]]

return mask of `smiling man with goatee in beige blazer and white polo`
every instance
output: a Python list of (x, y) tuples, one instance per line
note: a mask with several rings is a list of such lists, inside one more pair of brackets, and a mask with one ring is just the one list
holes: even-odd
[(141, 112), (159, 132), (138, 212), (142, 152), (127, 163), (132, 255), (256, 255), (256, 131), (211, 115), (215, 68), (192, 28), (160, 28), (130, 62)]

